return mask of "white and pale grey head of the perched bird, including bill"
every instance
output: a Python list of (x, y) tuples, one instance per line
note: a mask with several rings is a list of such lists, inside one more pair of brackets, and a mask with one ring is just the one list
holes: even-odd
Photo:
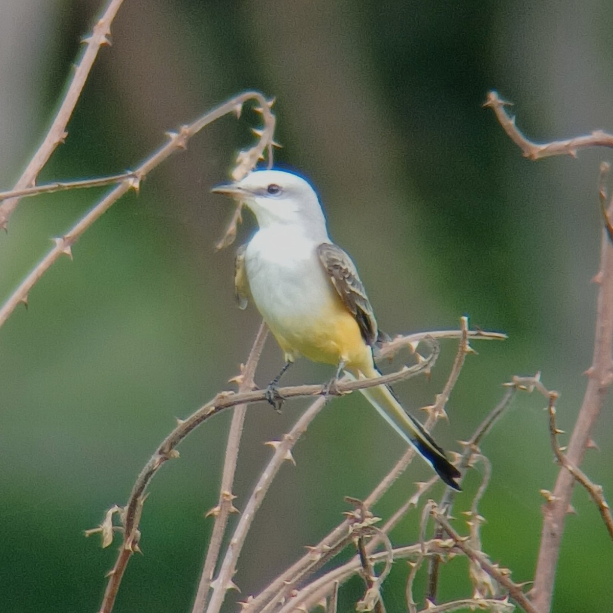
[(242, 200), (261, 229), (280, 224), (302, 229), (326, 240), (326, 218), (319, 198), (307, 180), (286, 170), (255, 170), (245, 178), (211, 191)]

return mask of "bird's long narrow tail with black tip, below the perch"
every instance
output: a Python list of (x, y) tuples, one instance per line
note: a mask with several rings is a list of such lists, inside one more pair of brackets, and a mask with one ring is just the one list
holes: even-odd
[[(381, 376), (374, 368), (373, 373), (368, 375)], [(435, 443), (424, 427), (406, 413), (389, 386), (366, 387), (360, 389), (360, 392), (377, 409), (381, 417), (432, 466), (447, 485), (460, 490), (460, 486), (454, 481), (459, 478), (460, 471), (447, 460), (443, 449)]]

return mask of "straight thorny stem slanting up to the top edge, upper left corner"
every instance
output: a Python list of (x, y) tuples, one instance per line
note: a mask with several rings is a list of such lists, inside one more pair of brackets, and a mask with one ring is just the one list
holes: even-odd
[[(66, 96), (59, 106), (58, 113), (51, 123), (51, 128), (47, 132), (42, 144), (30, 160), (23, 174), (15, 184), (15, 190), (31, 188), (36, 182), (40, 170), (47, 164), (56, 147), (66, 140), (68, 133), (66, 126), (72, 116), (72, 112), (77, 105), (78, 99), (83, 91), (83, 86), (87, 80), (91, 67), (96, 61), (98, 51), (102, 45), (110, 45), (109, 36), (111, 33), (111, 23), (120, 9), (123, 0), (110, 0), (107, 8), (102, 13), (102, 17), (97, 21), (91, 34), (83, 39), (86, 44), (83, 56), (75, 68), (74, 75), (66, 91)], [(19, 196), (12, 197), (0, 204), (0, 229), (6, 229), (10, 215), (19, 204)]]

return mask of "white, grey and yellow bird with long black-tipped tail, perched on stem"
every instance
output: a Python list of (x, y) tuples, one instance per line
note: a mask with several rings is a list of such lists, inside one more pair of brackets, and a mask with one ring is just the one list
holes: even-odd
[[(253, 298), (286, 367), (302, 354), (357, 377), (380, 376), (372, 347), (378, 328), (356, 266), (332, 243), (314, 189), (282, 170), (256, 170), (214, 192), (242, 200), (259, 230), (237, 254), (239, 306)], [(283, 373), (283, 371), (281, 371)], [(360, 390), (392, 427), (455, 489), (460, 476), (443, 449), (405, 412), (386, 385)]]

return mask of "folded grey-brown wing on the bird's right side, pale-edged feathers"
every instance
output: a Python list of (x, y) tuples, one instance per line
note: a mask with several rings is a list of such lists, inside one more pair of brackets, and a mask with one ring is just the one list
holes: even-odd
[(374, 345), (378, 335), (377, 322), (351, 257), (333, 243), (321, 243), (317, 254), (341, 302), (356, 318), (365, 343)]

